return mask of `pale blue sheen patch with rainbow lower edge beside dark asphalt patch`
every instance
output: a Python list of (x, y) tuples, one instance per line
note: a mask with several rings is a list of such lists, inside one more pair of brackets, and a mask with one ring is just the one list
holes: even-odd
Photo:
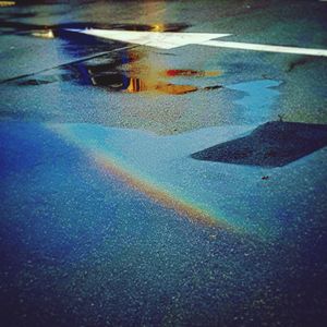
[[(204, 145), (214, 145), (217, 137), (222, 141), (244, 133), (246, 128), (210, 128), (174, 136), (96, 124), (48, 124), (48, 129), (81, 150), (105, 180), (113, 177), (136, 194), (172, 210), (177, 218), (262, 241), (280, 233), (280, 221), (271, 220), (269, 209), (265, 207), (263, 213), (251, 199), (262, 194), (257, 175), (264, 175), (265, 170), (235, 170), (231, 165), (190, 158)], [(235, 191), (237, 182), (242, 186)]]

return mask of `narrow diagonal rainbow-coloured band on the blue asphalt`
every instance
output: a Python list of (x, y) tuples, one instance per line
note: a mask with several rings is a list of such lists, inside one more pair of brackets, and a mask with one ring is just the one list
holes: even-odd
[[(173, 209), (177, 214), (185, 217), (192, 222), (197, 222), (207, 227), (222, 228), (230, 232), (244, 232), (241, 228), (229, 223), (227, 219), (220, 218), (205, 206), (192, 202), (184, 196), (167, 190), (165, 186), (154, 182), (149, 177), (137, 171), (134, 167), (124, 162), (121, 158), (110, 150), (105, 150), (101, 146), (96, 147), (87, 138), (80, 137), (78, 126), (76, 125), (48, 125), (52, 132), (64, 138), (68, 143), (77, 146), (87, 157), (96, 162), (104, 173), (114, 175), (120, 181), (128, 184), (131, 189), (146, 195), (155, 203)], [(96, 129), (96, 128), (94, 128)]]

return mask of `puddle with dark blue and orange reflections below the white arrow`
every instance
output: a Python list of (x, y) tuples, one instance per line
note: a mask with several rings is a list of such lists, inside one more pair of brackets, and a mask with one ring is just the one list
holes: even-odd
[[(26, 78), (20, 81), (17, 84), (26, 85), (43, 85), (56, 82), (73, 81), (81, 85), (93, 85), (102, 87), (108, 90), (124, 92), (124, 93), (140, 93), (140, 92), (156, 92), (171, 95), (181, 95), (199, 89), (210, 90), (221, 88), (221, 85), (211, 85), (198, 87), (192, 84), (174, 84), (169, 81), (175, 76), (185, 77), (207, 77), (218, 76), (219, 72), (193, 71), (193, 70), (173, 70), (181, 71), (181, 74), (171, 75), (168, 71), (159, 71), (146, 76), (143, 72), (134, 74), (131, 71), (124, 70), (119, 60), (114, 60), (108, 64), (87, 64), (86, 62), (65, 66), (65, 72), (57, 74), (39, 75), (34, 78)], [(189, 74), (186, 72), (190, 72)]]

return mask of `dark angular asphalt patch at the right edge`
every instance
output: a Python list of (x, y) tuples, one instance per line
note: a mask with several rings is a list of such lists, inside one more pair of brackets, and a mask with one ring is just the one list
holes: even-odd
[(327, 145), (327, 125), (267, 122), (250, 135), (217, 144), (191, 157), (197, 160), (281, 167)]

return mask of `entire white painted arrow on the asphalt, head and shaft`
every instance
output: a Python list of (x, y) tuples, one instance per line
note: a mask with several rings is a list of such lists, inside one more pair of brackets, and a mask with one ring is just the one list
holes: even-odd
[(83, 34), (98, 36), (108, 39), (114, 39), (124, 43), (149, 46), (149, 47), (155, 47), (160, 49), (173, 49), (186, 45), (202, 45), (202, 46), (210, 46), (210, 47), (219, 47), (219, 48), (327, 57), (327, 50), (325, 49), (310, 49), (310, 48), (214, 40), (219, 37), (229, 36), (230, 34), (135, 32), (135, 31), (112, 31), (112, 29), (95, 29), (95, 28), (66, 29), (66, 31), (83, 33)]

